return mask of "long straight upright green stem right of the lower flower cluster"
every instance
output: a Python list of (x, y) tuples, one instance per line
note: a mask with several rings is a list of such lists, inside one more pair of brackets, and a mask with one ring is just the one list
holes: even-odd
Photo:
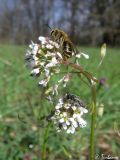
[(95, 159), (95, 125), (96, 125), (96, 87), (92, 84), (92, 117), (91, 117), (91, 134), (90, 134), (90, 160)]

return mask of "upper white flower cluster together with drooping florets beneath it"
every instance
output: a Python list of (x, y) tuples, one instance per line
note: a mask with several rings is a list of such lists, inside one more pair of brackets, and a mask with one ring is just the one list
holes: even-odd
[[(60, 85), (66, 87), (71, 78), (70, 73), (63, 75), (56, 84), (47, 87), (53, 75), (60, 73), (60, 65), (63, 60), (58, 43), (52, 41), (48, 37), (39, 38), (39, 44), (31, 43), (30, 49), (26, 53), (25, 60), (28, 68), (31, 69), (32, 76), (40, 76), (39, 85), (46, 87), (46, 95), (58, 95)], [(51, 97), (49, 96), (51, 99)]]

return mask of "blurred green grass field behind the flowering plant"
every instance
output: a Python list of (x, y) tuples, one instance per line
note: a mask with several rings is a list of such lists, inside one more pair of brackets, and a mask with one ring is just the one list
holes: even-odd
[[(0, 159), (38, 160), (41, 159), (46, 122), (39, 118), (51, 110), (41, 100), (41, 89), (37, 80), (29, 76), (25, 67), (26, 46), (0, 45)], [(98, 115), (96, 130), (96, 154), (119, 156), (120, 119), (120, 53), (117, 48), (107, 48), (107, 55), (98, 72), (100, 48), (80, 47), (89, 53), (90, 59), (80, 59), (82, 66), (93, 75), (105, 78), (105, 85), (97, 92), (98, 111), (104, 108), (103, 116)], [(72, 87), (71, 87), (72, 84)], [(77, 77), (68, 85), (68, 90), (80, 95), (89, 104), (90, 90)], [(36, 119), (36, 117), (39, 117)], [(56, 133), (51, 126), (46, 143), (49, 160), (89, 159), (90, 115), (86, 128), (74, 135)]]

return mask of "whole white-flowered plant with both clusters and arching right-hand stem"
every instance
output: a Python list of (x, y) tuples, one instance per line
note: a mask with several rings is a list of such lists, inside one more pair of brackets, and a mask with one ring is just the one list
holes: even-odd
[[(61, 95), (60, 90), (67, 87), (74, 74), (83, 75), (86, 79), (83, 81), (91, 89), (92, 95), (92, 118), (91, 118), (91, 160), (94, 159), (94, 129), (96, 120), (96, 83), (98, 80), (91, 73), (84, 70), (78, 63), (78, 59), (88, 55), (79, 52), (72, 53), (67, 60), (63, 58), (61, 45), (56, 43), (49, 37), (38, 38), (39, 42), (31, 42), (29, 50), (27, 50), (25, 60), (26, 65), (30, 69), (30, 75), (39, 77), (39, 86), (44, 88), (43, 95), (50, 103), (52, 103), (51, 113), (46, 116), (48, 123), (56, 126), (57, 132), (65, 131), (67, 134), (74, 134), (79, 128), (84, 128), (87, 121), (84, 115), (88, 114), (89, 108), (80, 99), (79, 96), (69, 93)], [(62, 71), (62, 67), (67, 68), (66, 72)], [(54, 83), (52, 78), (59, 75)], [(79, 76), (81, 78), (81, 76)], [(80, 79), (81, 80), (81, 79)], [(63, 92), (62, 92), (63, 93)], [(43, 116), (45, 117), (45, 116)], [(44, 157), (44, 154), (43, 154)]]

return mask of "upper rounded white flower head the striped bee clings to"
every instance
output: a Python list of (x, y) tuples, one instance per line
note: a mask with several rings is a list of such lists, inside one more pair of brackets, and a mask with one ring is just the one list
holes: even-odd
[(27, 51), (25, 60), (27, 66), (32, 70), (32, 76), (44, 75), (39, 85), (46, 87), (51, 76), (60, 72), (59, 65), (62, 55), (58, 52), (59, 45), (56, 42), (42, 36), (38, 39), (39, 44), (32, 42), (29, 45), (30, 50)]

